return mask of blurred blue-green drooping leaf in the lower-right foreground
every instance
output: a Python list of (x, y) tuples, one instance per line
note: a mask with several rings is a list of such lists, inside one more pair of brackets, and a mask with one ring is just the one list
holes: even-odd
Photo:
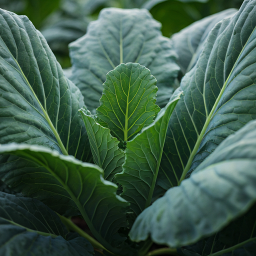
[[(146, 208), (130, 237), (179, 247), (198, 241), (244, 214), (256, 201), (256, 121), (226, 138), (177, 187)], [(256, 237), (255, 237), (256, 238)]]

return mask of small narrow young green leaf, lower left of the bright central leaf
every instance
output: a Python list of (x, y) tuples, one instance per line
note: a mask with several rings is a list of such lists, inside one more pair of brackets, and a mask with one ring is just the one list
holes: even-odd
[(104, 170), (104, 178), (112, 181), (115, 173), (122, 171), (124, 153), (118, 148), (119, 141), (112, 137), (110, 130), (98, 124), (90, 111), (79, 110), (90, 141), (94, 163)]

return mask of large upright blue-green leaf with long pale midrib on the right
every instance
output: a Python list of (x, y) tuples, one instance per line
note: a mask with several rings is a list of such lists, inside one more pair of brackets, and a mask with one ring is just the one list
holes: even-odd
[[(218, 22), (181, 81), (184, 96), (170, 118), (161, 162), (174, 185), (175, 175), (183, 179), (224, 138), (256, 118), (255, 13), (256, 0), (245, 0), (232, 18)], [(162, 188), (172, 186), (167, 181), (161, 180)]]

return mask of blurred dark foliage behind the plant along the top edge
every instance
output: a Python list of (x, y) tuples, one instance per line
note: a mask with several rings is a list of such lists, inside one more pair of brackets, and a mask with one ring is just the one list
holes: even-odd
[[(104, 7), (141, 7), (148, 0), (0, 0), (0, 8), (28, 16), (45, 36), (63, 68), (71, 65), (68, 43), (86, 32), (89, 21)], [(192, 22), (227, 8), (239, 8), (243, 0), (164, 0), (150, 8), (171, 36)]]

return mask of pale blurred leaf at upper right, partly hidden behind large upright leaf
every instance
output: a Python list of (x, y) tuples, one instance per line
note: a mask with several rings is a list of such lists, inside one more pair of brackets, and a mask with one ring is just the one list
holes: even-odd
[(195, 64), (202, 52), (210, 30), (223, 18), (233, 16), (237, 9), (227, 9), (192, 23), (171, 36), (173, 47), (183, 74)]

